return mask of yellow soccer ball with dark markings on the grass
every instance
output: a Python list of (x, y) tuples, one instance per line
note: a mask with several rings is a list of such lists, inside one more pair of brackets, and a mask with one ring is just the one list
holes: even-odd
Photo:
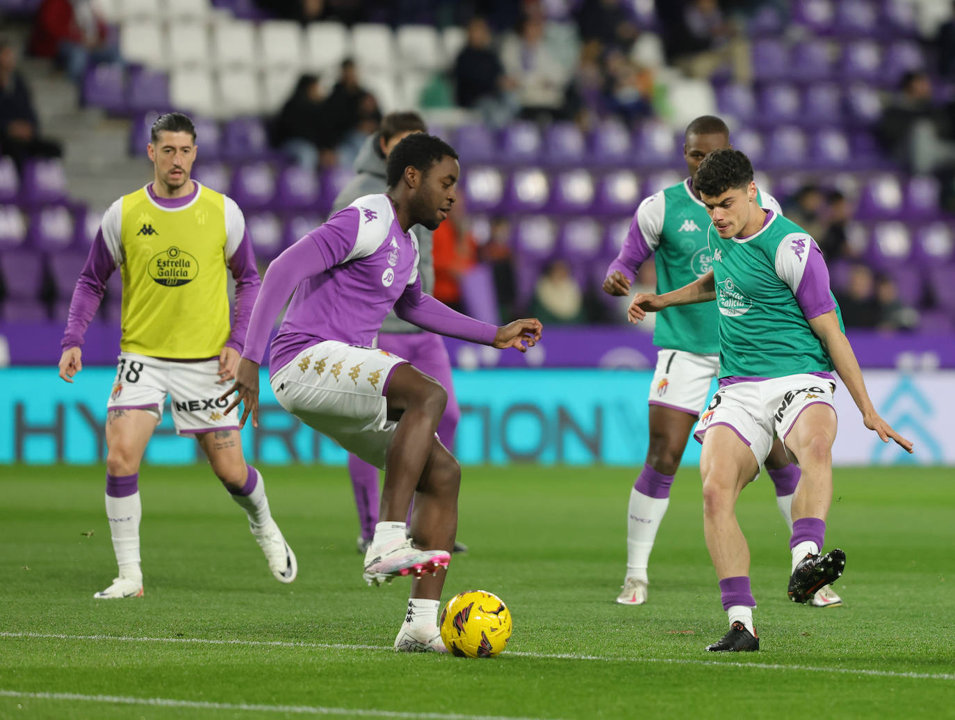
[(492, 658), (511, 637), (511, 611), (494, 593), (462, 592), (441, 611), (441, 640), (458, 657)]

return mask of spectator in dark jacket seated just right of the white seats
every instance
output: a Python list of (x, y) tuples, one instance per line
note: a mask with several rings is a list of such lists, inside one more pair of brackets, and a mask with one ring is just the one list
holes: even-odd
[(467, 44), (455, 61), (455, 97), (462, 108), (476, 108), (485, 122), (504, 125), (516, 107), (508, 92), (516, 85), (504, 74), (498, 53), (491, 47), (491, 31), (482, 17), (468, 21)]

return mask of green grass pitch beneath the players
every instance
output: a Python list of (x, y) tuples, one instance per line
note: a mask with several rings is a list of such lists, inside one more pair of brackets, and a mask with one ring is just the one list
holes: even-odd
[(613, 602), (632, 471), (465, 468), (471, 552), (443, 600), (491, 590), (515, 625), (477, 661), (391, 650), (408, 581), (362, 582), (344, 468), (263, 470), (296, 582), (271, 578), (206, 468), (146, 467), (145, 597), (95, 601), (115, 573), (103, 469), (0, 467), (0, 718), (955, 717), (951, 469), (838, 470), (839, 608), (786, 598), (772, 485), (748, 487), (763, 649), (713, 657), (727, 620), (695, 468), (674, 484), (639, 607)]

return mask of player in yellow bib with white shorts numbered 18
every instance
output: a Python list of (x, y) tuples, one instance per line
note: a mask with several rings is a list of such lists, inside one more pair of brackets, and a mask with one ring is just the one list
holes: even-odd
[[(107, 402), (106, 515), (118, 577), (97, 599), (142, 596), (139, 559), (139, 465), (162, 419), (166, 395), (180, 435), (199, 441), (212, 470), (244, 509), (255, 540), (279, 582), (298, 572), (295, 555), (272, 519), (259, 472), (245, 463), (239, 426), (224, 415), (220, 383), (235, 377), (249, 314), (259, 291), (252, 243), (239, 206), (189, 179), (196, 129), (180, 113), (159, 116), (146, 148), (154, 181), (114, 202), (76, 281), (59, 374), (82, 370), (83, 335), (106, 281), (122, 275), (122, 336), (117, 377)], [(236, 281), (229, 321), (226, 269)]]

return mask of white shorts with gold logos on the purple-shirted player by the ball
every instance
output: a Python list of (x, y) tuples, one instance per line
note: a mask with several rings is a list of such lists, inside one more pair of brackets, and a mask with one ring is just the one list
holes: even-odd
[(289, 413), (384, 469), (397, 426), (388, 419), (385, 390), (394, 369), (406, 362), (382, 349), (326, 340), (298, 353), (270, 383)]

